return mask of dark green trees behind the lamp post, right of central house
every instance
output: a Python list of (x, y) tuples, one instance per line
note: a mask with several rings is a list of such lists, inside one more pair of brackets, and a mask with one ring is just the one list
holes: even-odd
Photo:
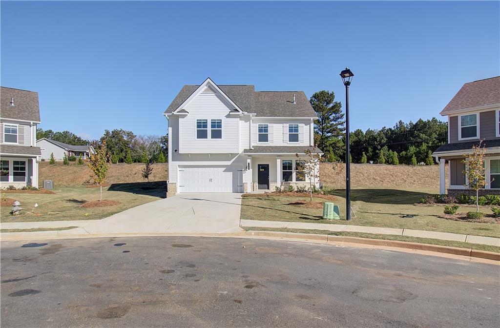
[[(345, 120), (341, 103), (333, 92), (315, 92), (309, 102), (318, 116), (314, 141), (328, 161), (345, 161)], [(431, 153), (447, 142), (447, 123), (433, 117), (393, 127), (356, 129), (349, 133), (350, 156), (354, 163), (434, 164)]]

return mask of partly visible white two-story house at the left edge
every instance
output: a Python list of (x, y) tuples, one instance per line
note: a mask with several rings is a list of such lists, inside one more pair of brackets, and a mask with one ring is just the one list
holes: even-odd
[(0, 87), (0, 187), (38, 187), (38, 93)]

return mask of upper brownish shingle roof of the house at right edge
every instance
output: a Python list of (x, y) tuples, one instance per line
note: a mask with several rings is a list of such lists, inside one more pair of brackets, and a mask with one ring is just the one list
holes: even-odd
[(463, 84), (446, 107), (441, 110), (441, 115), (495, 104), (500, 105), (500, 76)]

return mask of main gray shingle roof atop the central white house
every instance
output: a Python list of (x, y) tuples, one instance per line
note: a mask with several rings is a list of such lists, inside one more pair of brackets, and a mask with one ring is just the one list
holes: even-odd
[[(199, 85), (184, 85), (165, 113), (171, 113)], [(253, 85), (217, 85), (242, 111), (260, 117), (316, 117), (303, 91), (255, 91)], [(295, 104), (293, 101), (295, 94)]]

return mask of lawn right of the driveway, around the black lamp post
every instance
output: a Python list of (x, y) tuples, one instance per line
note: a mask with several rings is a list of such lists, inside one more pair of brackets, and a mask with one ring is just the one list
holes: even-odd
[[(419, 198), (430, 193), (425, 190), (396, 189), (353, 189), (351, 191), (351, 206), (356, 216), (350, 221), (324, 220), (321, 218), (321, 208), (303, 208), (290, 203), (298, 200), (308, 200), (306, 197), (293, 196), (244, 196), (241, 206), (241, 218), (269, 221), (318, 222), (332, 224), (353, 224), (382, 226), (393, 228), (408, 228), (454, 232), (473, 235), (500, 237), (499, 223), (459, 222), (437, 217), (443, 213), (443, 206), (415, 206)], [(335, 204), (340, 207), (340, 214), (345, 215), (345, 191), (335, 193)], [(314, 198), (313, 201), (323, 202), (324, 199)], [(460, 207), (458, 212), (474, 210), (473, 207)], [(490, 208), (480, 209), (491, 213)], [(416, 214), (413, 218), (402, 218), (403, 214)]]

